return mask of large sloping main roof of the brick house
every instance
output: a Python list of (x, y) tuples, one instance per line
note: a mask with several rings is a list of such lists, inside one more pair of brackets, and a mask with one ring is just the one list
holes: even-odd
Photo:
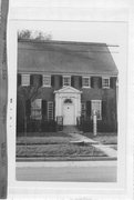
[(117, 74), (106, 43), (20, 40), (20, 72)]

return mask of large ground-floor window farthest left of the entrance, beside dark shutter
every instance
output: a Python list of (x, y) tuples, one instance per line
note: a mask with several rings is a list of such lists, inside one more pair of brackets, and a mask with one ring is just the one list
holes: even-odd
[(31, 119), (41, 120), (42, 119), (42, 100), (35, 99), (31, 102)]

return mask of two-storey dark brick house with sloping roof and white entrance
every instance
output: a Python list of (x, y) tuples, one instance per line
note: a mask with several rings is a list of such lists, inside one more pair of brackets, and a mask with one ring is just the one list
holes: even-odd
[(99, 131), (115, 132), (116, 81), (106, 43), (19, 40), (18, 128), (27, 114), (39, 126), (61, 118), (92, 131), (95, 110)]

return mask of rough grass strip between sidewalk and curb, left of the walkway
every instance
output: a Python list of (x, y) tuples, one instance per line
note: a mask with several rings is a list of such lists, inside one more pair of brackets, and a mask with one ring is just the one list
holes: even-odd
[(76, 146), (72, 143), (17, 146), (17, 157), (106, 157), (106, 154), (92, 146)]

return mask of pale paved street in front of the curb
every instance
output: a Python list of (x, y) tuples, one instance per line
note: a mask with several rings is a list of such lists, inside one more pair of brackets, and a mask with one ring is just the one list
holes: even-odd
[(115, 182), (116, 161), (18, 162), (17, 180)]

